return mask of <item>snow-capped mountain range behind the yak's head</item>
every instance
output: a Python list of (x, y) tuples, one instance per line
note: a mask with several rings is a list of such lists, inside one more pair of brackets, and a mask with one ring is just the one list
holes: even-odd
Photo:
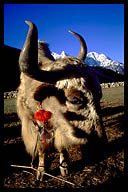
[[(60, 55), (55, 52), (52, 52), (52, 56), (55, 59), (58, 59), (58, 58), (64, 58), (68, 55), (64, 51), (62, 51)], [(112, 59), (105, 56), (104, 54), (90, 52), (87, 54), (85, 61), (90, 66), (103, 67), (103, 68), (111, 69), (119, 74), (122, 74), (122, 75), (124, 74), (124, 64), (113, 61)]]

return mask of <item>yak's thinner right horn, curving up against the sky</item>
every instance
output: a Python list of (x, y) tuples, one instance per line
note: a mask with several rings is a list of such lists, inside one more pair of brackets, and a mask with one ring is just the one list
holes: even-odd
[(68, 32), (72, 33), (73, 35), (75, 35), (79, 39), (79, 41), (80, 41), (80, 52), (79, 52), (79, 55), (78, 55), (78, 59), (84, 61), (85, 58), (86, 58), (86, 55), (87, 55), (87, 45), (86, 45), (85, 40), (78, 33), (75, 33), (75, 32), (70, 31), (70, 30)]

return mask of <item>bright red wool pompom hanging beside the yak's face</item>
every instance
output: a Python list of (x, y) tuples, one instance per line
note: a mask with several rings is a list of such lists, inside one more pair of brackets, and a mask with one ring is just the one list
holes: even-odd
[(46, 122), (51, 118), (51, 116), (52, 113), (50, 111), (39, 110), (34, 114), (34, 119)]

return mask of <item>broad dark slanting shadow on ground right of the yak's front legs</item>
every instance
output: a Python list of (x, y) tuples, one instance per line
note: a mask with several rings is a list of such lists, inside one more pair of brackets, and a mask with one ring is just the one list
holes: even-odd
[(115, 155), (118, 151), (122, 151), (125, 146), (124, 137), (120, 137), (107, 144), (98, 144), (92, 146), (82, 146), (82, 159), (72, 162), (71, 168), (73, 172), (82, 170), (85, 166), (95, 165), (108, 157)]

